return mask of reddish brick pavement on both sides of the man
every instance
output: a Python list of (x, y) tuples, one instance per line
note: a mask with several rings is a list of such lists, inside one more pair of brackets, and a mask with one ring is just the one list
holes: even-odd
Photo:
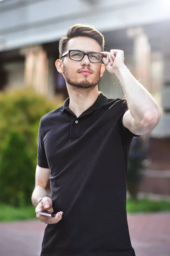
[[(170, 212), (127, 219), (136, 256), (170, 256)], [(40, 256), (45, 227), (38, 220), (0, 223), (0, 256)]]

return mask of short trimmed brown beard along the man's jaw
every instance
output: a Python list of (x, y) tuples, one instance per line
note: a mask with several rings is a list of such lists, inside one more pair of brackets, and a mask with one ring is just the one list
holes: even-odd
[(81, 81), (74, 81), (71, 79), (71, 76), (68, 72), (68, 70), (64, 68), (64, 77), (65, 77), (65, 81), (70, 84), (72, 87), (75, 87), (77, 89), (89, 89), (89, 88), (94, 88), (100, 81), (100, 73), (98, 75), (96, 75), (96, 80), (91, 82), (88, 80), (88, 76), (89, 75), (84, 75), (84, 79), (82, 79)]

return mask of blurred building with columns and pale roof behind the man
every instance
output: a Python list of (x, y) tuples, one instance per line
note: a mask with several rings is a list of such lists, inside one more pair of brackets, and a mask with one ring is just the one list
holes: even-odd
[[(150, 166), (140, 190), (170, 195), (169, 0), (0, 0), (0, 90), (33, 86), (67, 98), (55, 60), (59, 38), (76, 23), (99, 29), (105, 50), (124, 50), (129, 70), (161, 105), (159, 125), (145, 138)], [(99, 90), (110, 98), (124, 96), (107, 71)]]

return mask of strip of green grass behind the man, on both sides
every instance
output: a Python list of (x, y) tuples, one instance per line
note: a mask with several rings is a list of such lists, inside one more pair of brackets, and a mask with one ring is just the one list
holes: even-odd
[[(170, 202), (165, 200), (152, 201), (147, 198), (132, 200), (127, 199), (127, 213), (138, 212), (170, 212)], [(12, 207), (0, 204), (0, 221), (18, 221), (36, 219), (35, 209), (33, 206)]]

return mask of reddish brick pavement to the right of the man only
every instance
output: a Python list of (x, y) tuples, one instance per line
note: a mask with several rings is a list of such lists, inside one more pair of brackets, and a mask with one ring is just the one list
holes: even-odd
[(170, 256), (170, 213), (128, 215), (136, 256)]

